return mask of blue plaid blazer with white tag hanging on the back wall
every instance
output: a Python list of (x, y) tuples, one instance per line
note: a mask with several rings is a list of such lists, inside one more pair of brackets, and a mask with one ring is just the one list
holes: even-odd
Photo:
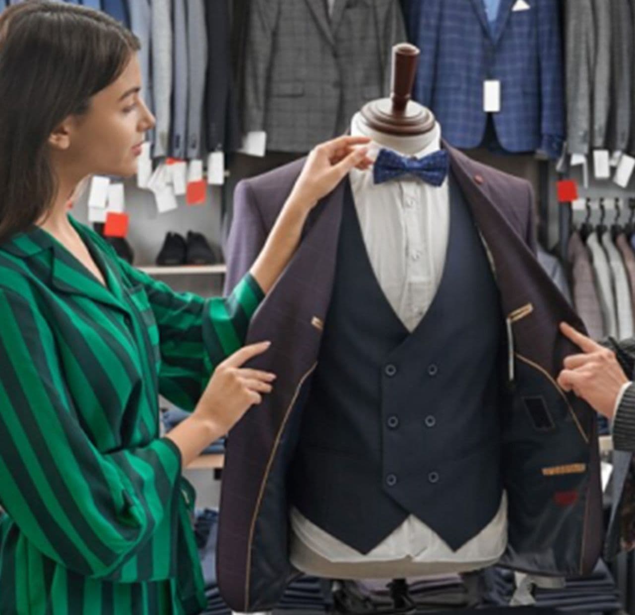
[(565, 100), (558, 0), (500, 0), (493, 27), (483, 0), (403, 5), (410, 41), (421, 49), (414, 98), (435, 113), (445, 139), (460, 148), (481, 145), (483, 81), (498, 79), (501, 110), (492, 119), (500, 145), (559, 155)]

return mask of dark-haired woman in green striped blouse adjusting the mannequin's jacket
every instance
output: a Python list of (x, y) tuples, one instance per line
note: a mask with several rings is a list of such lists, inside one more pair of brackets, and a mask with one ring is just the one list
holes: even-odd
[[(182, 467), (271, 392), (243, 368), (269, 347), (241, 349), (250, 316), (319, 198), (370, 162), (367, 139), (318, 146), (231, 297), (175, 294), (67, 214), (87, 176), (136, 171), (154, 125), (138, 48), (70, 4), (0, 16), (2, 615), (204, 607)], [(192, 411), (166, 437), (159, 393)]]

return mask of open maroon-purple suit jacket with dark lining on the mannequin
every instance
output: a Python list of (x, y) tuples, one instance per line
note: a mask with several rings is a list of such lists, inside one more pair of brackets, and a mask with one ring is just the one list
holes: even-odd
[[(595, 413), (556, 384), (563, 359), (576, 350), (558, 325), (584, 325), (534, 256), (530, 185), (445, 147), (493, 257), (512, 332), (514, 379), (504, 408), (501, 460), (509, 547), (501, 564), (554, 576), (590, 572), (602, 540)], [(250, 269), (303, 164), (298, 160), (237, 186), (227, 290)], [(218, 583), (235, 611), (271, 609), (297, 574), (288, 562), (285, 477), (329, 306), (345, 181), (312, 212), (295, 256), (251, 321), (247, 343), (273, 342), (251, 365), (278, 378), (274, 392), (229, 435)], [(535, 403), (551, 421), (546, 429), (531, 421)]]

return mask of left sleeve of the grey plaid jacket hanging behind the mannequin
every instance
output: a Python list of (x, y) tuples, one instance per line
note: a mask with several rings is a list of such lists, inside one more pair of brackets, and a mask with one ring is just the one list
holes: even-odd
[(253, 0), (249, 13), (244, 75), (244, 131), (265, 129), (267, 84), (274, 45), (278, 0)]

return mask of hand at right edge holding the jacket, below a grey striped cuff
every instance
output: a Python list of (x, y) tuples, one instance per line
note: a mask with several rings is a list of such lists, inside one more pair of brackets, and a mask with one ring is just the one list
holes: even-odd
[(558, 384), (565, 391), (573, 391), (600, 414), (613, 418), (620, 389), (629, 382), (615, 353), (565, 323), (560, 330), (584, 354), (572, 354), (565, 359)]

